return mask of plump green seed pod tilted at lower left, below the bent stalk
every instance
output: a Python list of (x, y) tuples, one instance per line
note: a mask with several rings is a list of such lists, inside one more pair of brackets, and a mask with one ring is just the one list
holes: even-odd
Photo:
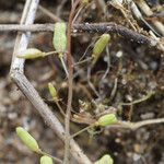
[(40, 149), (36, 140), (22, 127), (16, 128), (16, 134), (22, 140), (22, 142), (32, 151), (39, 153)]

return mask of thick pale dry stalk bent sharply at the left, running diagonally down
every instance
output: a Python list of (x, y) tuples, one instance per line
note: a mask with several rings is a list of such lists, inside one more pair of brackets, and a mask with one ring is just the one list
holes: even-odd
[[(31, 25), (34, 22), (35, 11), (39, 0), (26, 0), (24, 12), (21, 19), (21, 24)], [(37, 91), (31, 84), (31, 82), (24, 75), (24, 59), (17, 58), (16, 55), (25, 50), (28, 44), (30, 33), (19, 33), (14, 46), (12, 65), (10, 75), (19, 89), (24, 93), (27, 99), (33, 104), (38, 114), (44, 118), (45, 122), (56, 132), (56, 134), (65, 141), (65, 129), (58, 118), (44, 103)], [(91, 161), (82, 152), (80, 147), (74, 142), (70, 141), (70, 150), (73, 157), (81, 164), (91, 164)]]

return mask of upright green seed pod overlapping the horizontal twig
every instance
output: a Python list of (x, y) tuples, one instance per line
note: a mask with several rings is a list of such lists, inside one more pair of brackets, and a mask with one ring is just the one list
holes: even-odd
[(65, 52), (67, 48), (66, 23), (55, 24), (52, 45), (58, 52)]

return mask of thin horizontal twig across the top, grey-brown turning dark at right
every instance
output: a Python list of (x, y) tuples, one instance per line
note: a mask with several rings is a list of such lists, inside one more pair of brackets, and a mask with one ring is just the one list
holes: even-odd
[[(32, 24), (32, 25), (17, 25), (17, 24), (3, 24), (0, 25), (0, 32), (54, 32), (54, 24)], [(149, 46), (156, 46), (157, 40), (150, 38), (145, 35), (133, 32), (125, 26), (115, 23), (94, 23), (94, 24), (73, 24), (73, 33), (114, 33), (119, 34), (126, 39), (139, 44), (147, 44)]]

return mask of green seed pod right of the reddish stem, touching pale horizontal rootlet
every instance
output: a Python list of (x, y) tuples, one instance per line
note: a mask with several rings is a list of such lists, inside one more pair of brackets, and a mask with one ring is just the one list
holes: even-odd
[(107, 114), (98, 118), (96, 126), (108, 126), (117, 122), (117, 118), (114, 114)]

